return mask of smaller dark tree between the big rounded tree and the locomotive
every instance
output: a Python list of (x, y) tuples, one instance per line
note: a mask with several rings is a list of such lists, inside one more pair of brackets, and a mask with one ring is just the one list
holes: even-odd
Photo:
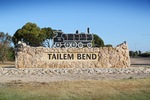
[(46, 35), (45, 39), (44, 39), (45, 41), (43, 42), (43, 46), (50, 48), (51, 47), (51, 43), (52, 43), (52, 39), (54, 37), (53, 30), (50, 27), (42, 28), (41, 29), (41, 33)]

